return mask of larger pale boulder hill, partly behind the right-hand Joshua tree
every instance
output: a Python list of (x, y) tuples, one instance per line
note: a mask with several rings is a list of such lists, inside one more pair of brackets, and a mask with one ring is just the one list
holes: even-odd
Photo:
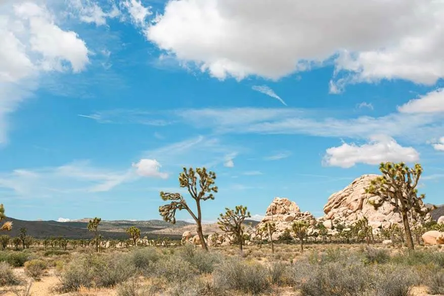
[(319, 220), (331, 229), (332, 225), (352, 225), (363, 217), (367, 217), (373, 229), (388, 228), (392, 224), (402, 224), (401, 213), (385, 202), (380, 208), (375, 208), (371, 201), (378, 200), (377, 196), (365, 192), (371, 181), (378, 175), (363, 175), (339, 192), (333, 193), (324, 206), (325, 215)]

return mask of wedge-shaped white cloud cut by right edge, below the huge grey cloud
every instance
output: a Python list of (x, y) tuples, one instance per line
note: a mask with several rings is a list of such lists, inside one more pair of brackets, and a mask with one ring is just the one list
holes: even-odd
[(444, 88), (440, 88), (420, 96), (401, 107), (403, 113), (444, 113)]

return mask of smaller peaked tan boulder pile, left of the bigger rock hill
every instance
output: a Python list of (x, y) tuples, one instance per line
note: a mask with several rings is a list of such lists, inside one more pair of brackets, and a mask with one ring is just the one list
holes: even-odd
[(290, 229), (294, 222), (306, 221), (309, 225), (316, 224), (316, 218), (310, 212), (301, 212), (295, 202), (286, 198), (275, 198), (265, 212), (265, 217), (257, 225), (261, 228), (266, 222), (273, 221), (276, 231), (273, 240), (279, 239), (285, 229)]

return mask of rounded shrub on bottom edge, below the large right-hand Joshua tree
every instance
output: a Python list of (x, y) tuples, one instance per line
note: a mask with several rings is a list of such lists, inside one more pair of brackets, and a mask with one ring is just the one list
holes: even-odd
[(392, 266), (379, 270), (374, 279), (375, 296), (408, 296), (419, 277), (412, 270)]

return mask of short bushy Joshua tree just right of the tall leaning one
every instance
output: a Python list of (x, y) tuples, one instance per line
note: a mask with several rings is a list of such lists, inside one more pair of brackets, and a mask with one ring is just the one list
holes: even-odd
[(225, 208), (225, 210), (225, 214), (220, 214), (220, 217), (217, 218), (217, 224), (219, 224), (219, 228), (222, 231), (232, 233), (236, 236), (239, 243), (239, 251), (242, 253), (244, 234), (242, 223), (244, 222), (245, 218), (251, 217), (250, 212), (247, 211), (247, 207), (243, 206), (236, 206), (234, 210), (229, 208)]

